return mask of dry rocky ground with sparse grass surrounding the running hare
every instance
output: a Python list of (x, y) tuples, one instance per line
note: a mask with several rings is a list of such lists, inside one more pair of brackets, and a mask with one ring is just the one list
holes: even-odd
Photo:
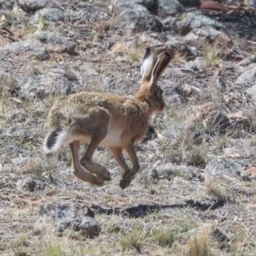
[[(0, 254), (255, 255), (255, 6), (0, 0)], [(67, 147), (42, 153), (49, 108), (84, 90), (135, 94), (148, 46), (175, 55), (142, 171), (120, 189), (98, 148), (113, 179), (82, 183)]]

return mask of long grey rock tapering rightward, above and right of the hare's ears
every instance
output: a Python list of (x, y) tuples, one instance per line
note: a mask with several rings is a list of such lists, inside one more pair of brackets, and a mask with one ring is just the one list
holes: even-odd
[(176, 31), (183, 35), (188, 34), (193, 28), (212, 27), (219, 30), (224, 27), (218, 21), (212, 20), (211, 18), (200, 15), (196, 12), (178, 16), (175, 26)]

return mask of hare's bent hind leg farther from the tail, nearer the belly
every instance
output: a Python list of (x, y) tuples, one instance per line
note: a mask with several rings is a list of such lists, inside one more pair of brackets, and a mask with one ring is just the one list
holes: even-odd
[[(108, 126), (108, 125), (104, 125), (104, 126)], [(98, 145), (102, 142), (102, 139), (106, 137), (107, 133), (108, 133), (108, 129), (106, 132), (98, 133), (95, 136), (92, 136), (90, 140), (90, 144), (88, 145), (88, 148), (85, 154), (80, 160), (80, 164), (84, 166), (86, 170), (96, 174), (97, 177), (100, 177), (104, 181), (111, 180), (110, 173), (108, 172), (108, 169), (105, 168), (104, 166), (94, 163), (92, 161), (92, 155), (94, 154)]]

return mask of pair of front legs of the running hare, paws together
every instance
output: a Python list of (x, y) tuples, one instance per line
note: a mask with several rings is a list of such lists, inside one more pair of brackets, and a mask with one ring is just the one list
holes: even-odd
[(122, 179), (120, 180), (119, 185), (122, 189), (126, 189), (127, 187), (129, 187), (132, 177), (134, 177), (137, 174), (137, 172), (140, 171), (140, 165), (139, 165), (139, 161), (137, 160), (137, 154), (136, 154), (135, 148), (133, 144), (125, 148), (125, 150), (127, 151), (127, 153), (131, 158), (131, 162), (132, 162), (131, 169), (129, 169), (129, 167), (125, 163), (125, 159), (122, 154), (122, 148), (109, 148), (109, 149), (111, 150), (114, 158), (118, 161), (119, 165), (125, 171)]

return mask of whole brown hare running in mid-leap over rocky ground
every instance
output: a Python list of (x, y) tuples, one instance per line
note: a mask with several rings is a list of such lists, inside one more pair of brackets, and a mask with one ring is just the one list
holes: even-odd
[[(59, 97), (49, 111), (50, 132), (44, 140), (44, 152), (53, 153), (62, 143), (68, 144), (73, 174), (84, 182), (100, 186), (111, 180), (110, 173), (93, 162), (92, 156), (98, 146), (109, 148), (124, 170), (119, 185), (127, 188), (140, 170), (135, 145), (145, 136), (151, 114), (160, 113), (166, 107), (163, 91), (156, 83), (171, 59), (165, 51), (157, 61), (156, 49), (146, 49), (141, 67), (143, 79), (134, 97), (98, 92)], [(81, 160), (80, 143), (88, 143)], [(123, 149), (131, 158), (131, 168), (125, 163)]]

